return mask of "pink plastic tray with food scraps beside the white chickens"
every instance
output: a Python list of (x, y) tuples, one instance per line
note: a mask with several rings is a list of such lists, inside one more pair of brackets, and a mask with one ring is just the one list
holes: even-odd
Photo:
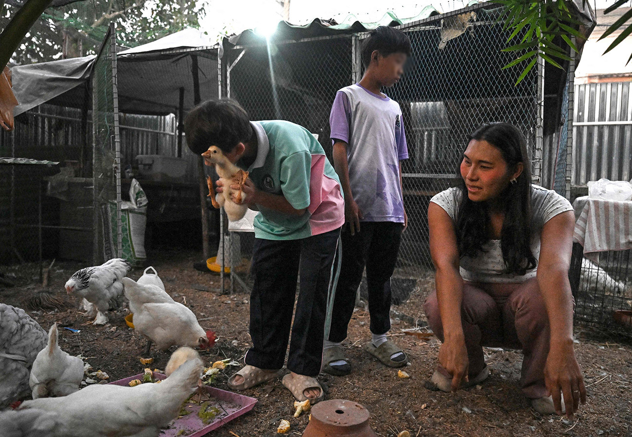
[[(157, 380), (164, 380), (166, 376), (162, 373), (154, 372), (154, 378)], [(125, 378), (124, 380), (118, 380), (111, 382), (114, 385), (128, 385), (131, 380), (142, 380), (143, 374), (137, 374)], [(226, 390), (219, 390), (219, 388), (213, 388), (204, 386), (209, 397), (212, 398), (211, 403), (216, 406), (220, 413), (213, 419), (212, 422), (204, 424), (202, 419), (198, 417), (197, 412), (200, 410), (200, 406), (197, 404), (186, 404), (186, 409), (191, 411), (191, 414), (176, 419), (175, 422), (169, 428), (163, 429), (160, 436), (164, 437), (202, 437), (220, 426), (230, 422), (236, 417), (247, 413), (257, 404), (257, 399), (248, 396), (238, 395), (237, 393), (226, 392)], [(213, 402), (214, 401), (214, 402)], [(178, 434), (181, 430), (184, 430), (183, 434)]]

